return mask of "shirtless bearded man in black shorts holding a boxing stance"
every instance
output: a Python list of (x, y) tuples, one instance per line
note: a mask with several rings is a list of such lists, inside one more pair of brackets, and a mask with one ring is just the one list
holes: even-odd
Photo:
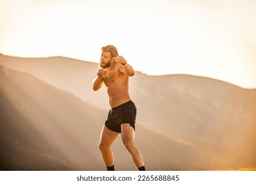
[(136, 106), (130, 99), (128, 85), (129, 77), (134, 76), (134, 69), (123, 57), (118, 56), (113, 45), (101, 48), (100, 66), (97, 78), (93, 80), (93, 90), (99, 90), (105, 83), (111, 106), (99, 141), (99, 149), (107, 170), (115, 170), (111, 145), (121, 133), (122, 143), (132, 156), (134, 164), (138, 170), (143, 171), (143, 157), (135, 145)]

